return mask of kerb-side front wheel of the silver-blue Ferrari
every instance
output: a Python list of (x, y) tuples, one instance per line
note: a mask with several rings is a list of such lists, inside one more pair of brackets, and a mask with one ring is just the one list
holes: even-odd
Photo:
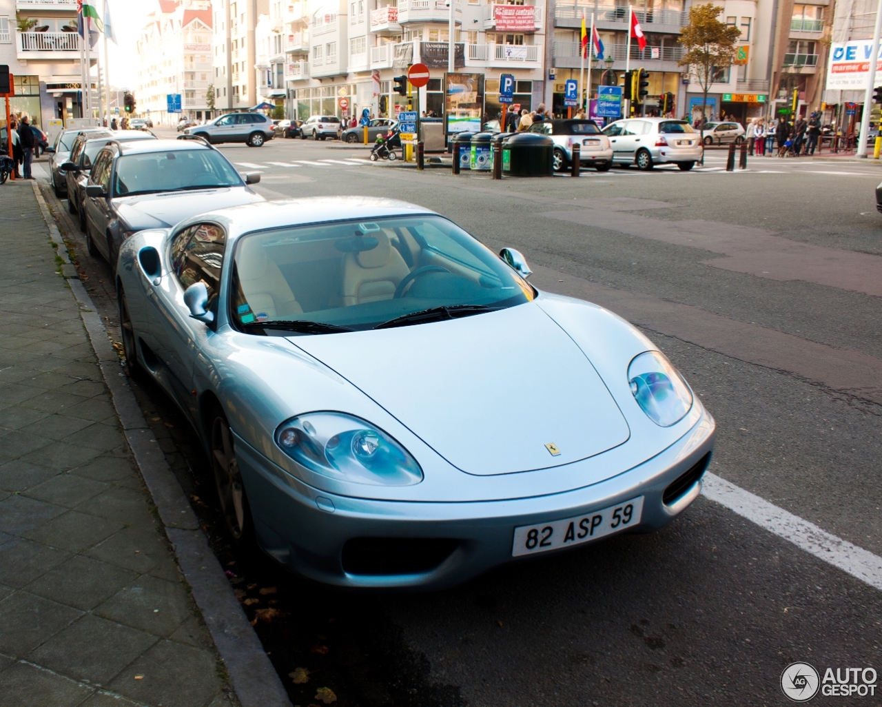
[(245, 544), (252, 537), (254, 525), (242, 473), (235, 459), (233, 434), (220, 408), (212, 413), (211, 450), (214, 487), (221, 503), (223, 525), (235, 543)]

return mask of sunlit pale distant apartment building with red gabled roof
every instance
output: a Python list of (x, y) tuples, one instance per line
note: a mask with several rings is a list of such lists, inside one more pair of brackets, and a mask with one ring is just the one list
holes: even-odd
[[(136, 42), (138, 114), (174, 125), (182, 116), (211, 116), (212, 11), (209, 0), (158, 0)], [(168, 95), (181, 94), (183, 114), (168, 112)]]

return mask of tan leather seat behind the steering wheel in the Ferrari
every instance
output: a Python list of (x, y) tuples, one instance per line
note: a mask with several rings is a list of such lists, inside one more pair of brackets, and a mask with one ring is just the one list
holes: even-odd
[(371, 233), (377, 248), (347, 253), (343, 259), (343, 306), (391, 300), (410, 269), (383, 231)]

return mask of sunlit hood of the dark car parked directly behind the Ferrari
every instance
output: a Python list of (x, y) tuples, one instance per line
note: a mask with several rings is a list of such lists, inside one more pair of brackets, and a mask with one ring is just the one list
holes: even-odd
[(163, 194), (143, 194), (139, 197), (116, 197), (116, 212), (131, 230), (168, 228), (197, 213), (216, 211), (227, 206), (239, 206), (265, 201), (264, 197), (245, 187), (177, 191)]

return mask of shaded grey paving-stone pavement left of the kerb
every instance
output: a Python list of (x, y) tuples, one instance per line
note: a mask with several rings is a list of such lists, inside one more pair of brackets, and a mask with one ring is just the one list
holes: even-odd
[(0, 204), (0, 707), (235, 705), (30, 182)]

